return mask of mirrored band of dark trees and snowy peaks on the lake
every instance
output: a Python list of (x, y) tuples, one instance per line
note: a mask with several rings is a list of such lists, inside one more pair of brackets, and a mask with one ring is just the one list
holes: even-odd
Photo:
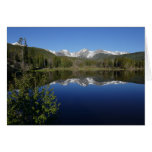
[[(37, 84), (41, 77), (46, 75), (47, 84), (77, 83), (81, 86), (125, 84), (127, 82), (144, 84), (144, 71), (54, 71), (47, 73), (34, 73)], [(44, 84), (39, 84), (44, 85)]]

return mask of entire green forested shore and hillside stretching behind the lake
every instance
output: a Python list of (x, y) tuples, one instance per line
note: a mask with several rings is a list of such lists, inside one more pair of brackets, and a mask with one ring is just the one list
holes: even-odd
[[(131, 54), (130, 54), (131, 56)], [(58, 67), (144, 68), (144, 60), (118, 56), (98, 60), (55, 56), (41, 48), (7, 45), (8, 70), (32, 70)]]

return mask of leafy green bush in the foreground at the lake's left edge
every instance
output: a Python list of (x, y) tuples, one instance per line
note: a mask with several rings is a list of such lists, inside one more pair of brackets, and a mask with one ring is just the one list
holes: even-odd
[[(47, 119), (57, 114), (60, 103), (57, 102), (53, 89), (49, 86), (33, 86), (35, 77), (23, 74), (21, 79), (14, 78), (7, 97), (7, 123), (12, 124), (46, 124)], [(42, 79), (45, 81), (45, 78)]]

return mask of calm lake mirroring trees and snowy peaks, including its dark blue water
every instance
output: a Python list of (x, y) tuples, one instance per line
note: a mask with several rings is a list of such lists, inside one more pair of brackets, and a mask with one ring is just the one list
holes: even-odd
[[(41, 82), (46, 76), (45, 83)], [(61, 103), (48, 125), (144, 125), (144, 71), (36, 72)]]

